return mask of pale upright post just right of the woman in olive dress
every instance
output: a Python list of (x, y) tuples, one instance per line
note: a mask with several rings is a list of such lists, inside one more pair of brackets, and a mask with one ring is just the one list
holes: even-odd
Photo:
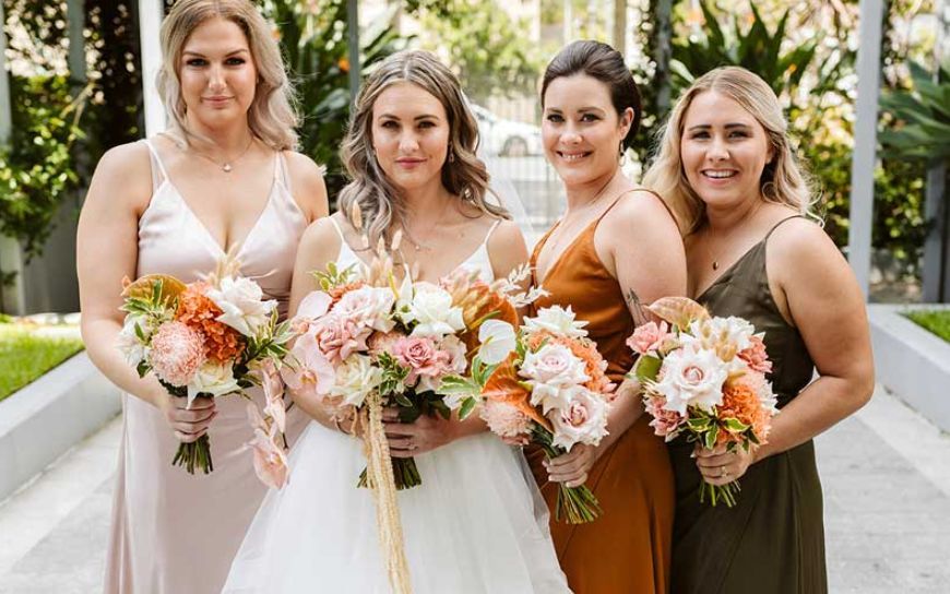
[(857, 100), (855, 102), (854, 154), (851, 166), (851, 226), (847, 258), (865, 299), (871, 265), (874, 219), (874, 169), (877, 161), (878, 95), (881, 75), (881, 0), (860, 0), (857, 50)]

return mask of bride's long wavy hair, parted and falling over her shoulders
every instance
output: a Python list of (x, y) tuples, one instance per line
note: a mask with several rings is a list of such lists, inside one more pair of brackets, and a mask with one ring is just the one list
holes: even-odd
[(340, 192), (340, 210), (353, 221), (359, 206), (363, 228), (371, 245), (405, 227), (406, 209), (402, 192), (387, 178), (372, 152), (372, 107), (383, 91), (396, 83), (412, 83), (436, 97), (449, 120), (449, 152), (454, 163), (442, 165), (442, 186), (482, 213), (510, 218), (508, 211), (486, 200), (488, 169), (476, 156), (478, 123), (462, 94), (459, 80), (428, 51), (393, 54), (372, 71), (356, 99), (349, 128), (340, 150), (352, 181)]

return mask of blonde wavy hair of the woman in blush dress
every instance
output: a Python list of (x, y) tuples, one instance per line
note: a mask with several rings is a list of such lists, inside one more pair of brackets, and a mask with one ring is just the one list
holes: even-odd
[(225, 19), (238, 25), (258, 71), (254, 98), (248, 109), (251, 133), (274, 151), (294, 150), (299, 119), (294, 90), (271, 26), (249, 0), (178, 0), (162, 23), (162, 68), (157, 86), (168, 115), (169, 128), (188, 143), (198, 134), (189, 129), (187, 106), (181, 96), (181, 52), (194, 29), (209, 19)]

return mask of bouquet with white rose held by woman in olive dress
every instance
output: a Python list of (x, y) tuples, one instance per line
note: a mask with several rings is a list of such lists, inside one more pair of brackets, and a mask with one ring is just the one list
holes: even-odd
[[(643, 401), (657, 436), (727, 451), (764, 443), (775, 396), (765, 373), (772, 361), (762, 334), (748, 321), (710, 317), (685, 297), (658, 299), (649, 308), (662, 321), (638, 328), (627, 340), (639, 358), (631, 373), (644, 388)], [(700, 501), (736, 503), (739, 484), (700, 486)]]

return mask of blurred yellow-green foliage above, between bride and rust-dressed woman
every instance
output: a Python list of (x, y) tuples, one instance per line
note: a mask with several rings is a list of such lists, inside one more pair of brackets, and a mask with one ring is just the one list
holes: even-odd
[(423, 45), (448, 51), (449, 64), (475, 102), (535, 93), (543, 61), (522, 32), (527, 25), (512, 21), (495, 0), (420, 0), (415, 7), (426, 32)]

